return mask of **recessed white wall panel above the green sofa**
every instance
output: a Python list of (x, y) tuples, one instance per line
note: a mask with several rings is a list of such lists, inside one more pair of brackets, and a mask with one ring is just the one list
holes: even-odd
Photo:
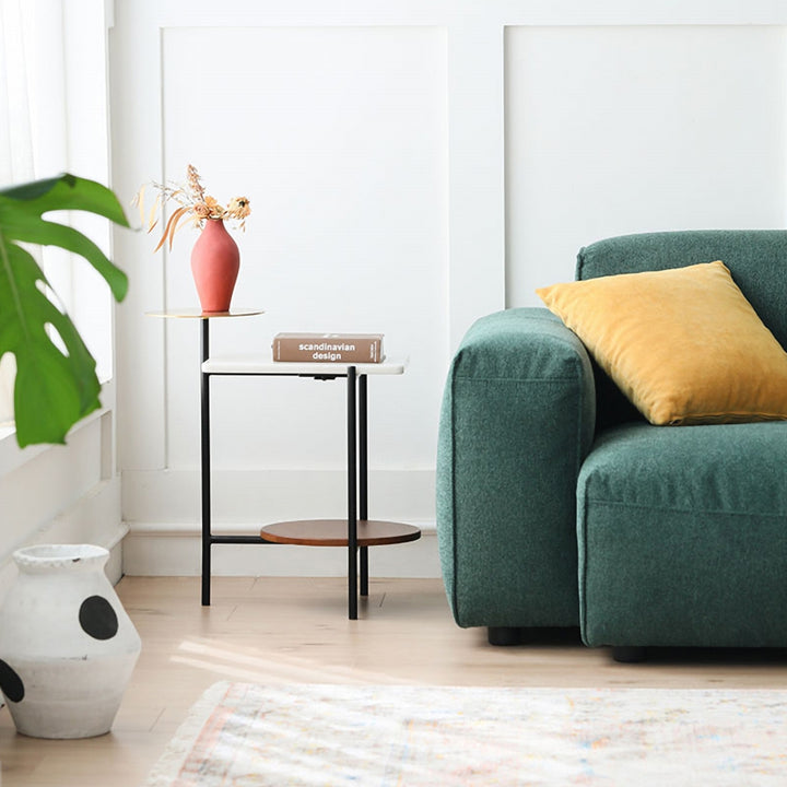
[(610, 235), (784, 226), (786, 35), (508, 28), (507, 304)]

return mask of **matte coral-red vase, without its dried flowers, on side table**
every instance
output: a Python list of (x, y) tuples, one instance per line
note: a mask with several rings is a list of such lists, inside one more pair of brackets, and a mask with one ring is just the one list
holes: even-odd
[(237, 244), (221, 219), (208, 219), (191, 249), (191, 273), (202, 312), (228, 312), (240, 268)]

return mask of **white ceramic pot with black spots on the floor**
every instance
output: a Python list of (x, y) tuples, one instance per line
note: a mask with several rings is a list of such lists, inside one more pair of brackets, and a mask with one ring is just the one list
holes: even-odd
[(90, 738), (109, 731), (141, 649), (91, 544), (14, 552), (19, 577), (0, 609), (0, 690), (19, 732)]

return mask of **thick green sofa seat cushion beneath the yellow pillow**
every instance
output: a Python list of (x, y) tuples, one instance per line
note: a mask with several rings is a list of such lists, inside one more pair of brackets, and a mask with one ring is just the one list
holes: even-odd
[(577, 504), (588, 645), (787, 646), (787, 423), (615, 427)]

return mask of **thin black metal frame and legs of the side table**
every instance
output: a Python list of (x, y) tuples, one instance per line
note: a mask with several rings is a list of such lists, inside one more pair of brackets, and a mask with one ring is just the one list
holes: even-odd
[[(211, 443), (210, 443), (210, 378), (211, 377), (310, 377), (331, 380), (346, 377), (346, 451), (348, 451), (348, 616), (357, 620), (359, 552), (361, 596), (368, 596), (368, 547), (357, 545), (357, 521), (368, 518), (368, 442), (366, 428), (366, 375), (356, 367), (342, 366), (336, 374), (304, 374), (299, 372), (205, 372), (210, 357), (210, 317), (200, 321), (200, 407), (201, 407), (201, 488), (202, 488), (202, 606), (210, 606), (211, 548), (213, 544), (268, 544), (260, 536), (215, 536), (211, 530)], [(346, 371), (344, 371), (346, 369)]]

